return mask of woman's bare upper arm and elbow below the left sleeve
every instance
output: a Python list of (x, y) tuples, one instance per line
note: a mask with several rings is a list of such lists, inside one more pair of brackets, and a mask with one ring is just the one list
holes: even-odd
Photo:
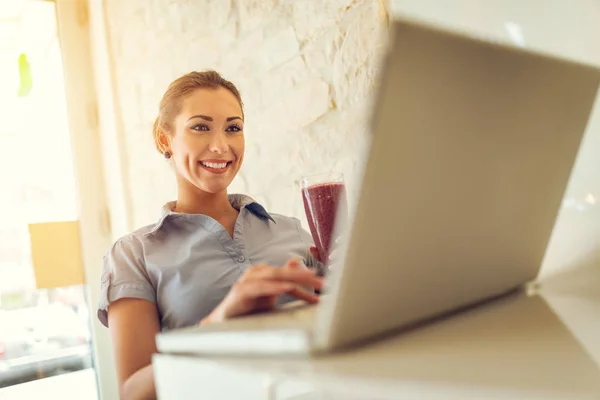
[(108, 326), (113, 342), (121, 400), (155, 399), (152, 354), (160, 332), (156, 305), (124, 298), (110, 304)]

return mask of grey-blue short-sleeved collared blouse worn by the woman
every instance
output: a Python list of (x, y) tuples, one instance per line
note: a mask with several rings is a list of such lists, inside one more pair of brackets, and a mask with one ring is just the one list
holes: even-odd
[(190, 326), (250, 265), (283, 266), (299, 258), (322, 267), (310, 255), (313, 241), (299, 220), (269, 214), (248, 196), (230, 195), (229, 201), (240, 211), (233, 239), (213, 218), (176, 213), (171, 202), (158, 222), (117, 240), (103, 259), (100, 321), (108, 326), (109, 304), (129, 297), (155, 303), (163, 330)]

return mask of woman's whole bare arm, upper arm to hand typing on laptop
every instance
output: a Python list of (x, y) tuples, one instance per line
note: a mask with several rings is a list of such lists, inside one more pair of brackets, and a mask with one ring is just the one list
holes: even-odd
[[(283, 268), (254, 265), (233, 285), (227, 296), (200, 321), (201, 325), (220, 322), (254, 311), (275, 307), (277, 299), (290, 294), (316, 303), (318, 297), (301, 287), (321, 289), (321, 278), (292, 260)], [(110, 304), (108, 326), (113, 341), (121, 400), (156, 398), (152, 354), (157, 352), (155, 336), (160, 332), (154, 303), (123, 298)]]

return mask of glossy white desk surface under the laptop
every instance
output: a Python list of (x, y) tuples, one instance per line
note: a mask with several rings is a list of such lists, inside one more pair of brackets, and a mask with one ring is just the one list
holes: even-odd
[(169, 399), (600, 399), (600, 266), (316, 359), (154, 358)]

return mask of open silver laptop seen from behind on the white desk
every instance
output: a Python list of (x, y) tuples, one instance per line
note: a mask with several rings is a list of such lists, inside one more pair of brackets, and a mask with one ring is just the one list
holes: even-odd
[(392, 21), (360, 194), (320, 303), (162, 333), (159, 351), (329, 352), (531, 282), (599, 83), (591, 66)]

